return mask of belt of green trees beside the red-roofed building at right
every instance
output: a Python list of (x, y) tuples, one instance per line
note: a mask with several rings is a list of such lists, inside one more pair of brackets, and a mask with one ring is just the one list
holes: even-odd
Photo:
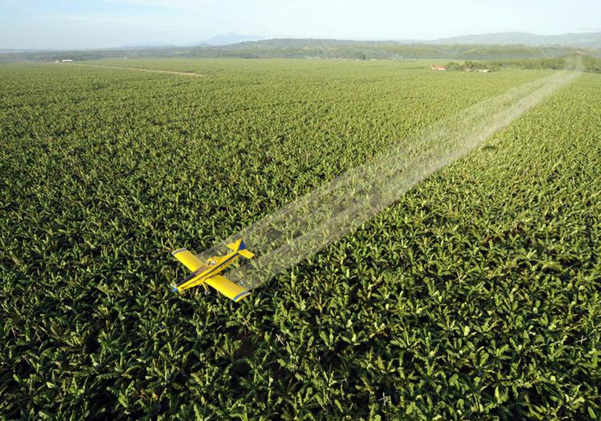
[(488, 70), (495, 72), (501, 69), (578, 69), (581, 68), (584, 72), (601, 73), (601, 58), (591, 57), (588, 55), (567, 55), (564, 57), (555, 58), (521, 58), (512, 60), (495, 60), (495, 61), (465, 61), (464, 63), (456, 63), (451, 61), (445, 66), (447, 70), (471, 71), (471, 70)]

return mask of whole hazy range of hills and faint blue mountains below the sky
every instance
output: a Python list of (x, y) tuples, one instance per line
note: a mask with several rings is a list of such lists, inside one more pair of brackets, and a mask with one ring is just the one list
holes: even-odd
[(202, 43), (70, 51), (1, 51), (0, 61), (53, 61), (108, 57), (346, 58), (352, 60), (507, 60), (555, 58), (569, 54), (601, 57), (601, 33), (534, 35), (523, 32), (463, 35), (432, 41), (353, 41), (319, 38), (258, 39), (223, 34)]

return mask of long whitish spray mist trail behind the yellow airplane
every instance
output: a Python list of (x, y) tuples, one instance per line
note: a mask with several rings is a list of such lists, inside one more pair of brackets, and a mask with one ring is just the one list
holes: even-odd
[(370, 220), (412, 186), (461, 158), (579, 75), (557, 72), (478, 102), (430, 126), (403, 146), (391, 146), (373, 161), (281, 207), (199, 256), (220, 254), (226, 244), (242, 237), (257, 257), (227, 277), (248, 289), (257, 287)]

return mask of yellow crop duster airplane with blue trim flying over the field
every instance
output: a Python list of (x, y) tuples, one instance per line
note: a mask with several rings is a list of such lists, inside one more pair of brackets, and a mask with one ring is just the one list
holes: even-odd
[(190, 251), (185, 248), (175, 250), (172, 254), (177, 260), (186, 265), (186, 268), (192, 271), (185, 280), (178, 284), (172, 284), (174, 292), (182, 292), (183, 290), (192, 288), (194, 286), (202, 284), (205, 290), (209, 290), (207, 284), (221, 292), (225, 297), (231, 298), (234, 302), (242, 300), (242, 298), (249, 295), (250, 292), (241, 287), (240, 285), (233, 283), (228, 278), (220, 275), (227, 266), (236, 262), (242, 257), (246, 259), (252, 259), (255, 255), (246, 249), (246, 245), (242, 241), (242, 238), (227, 245), (231, 248), (232, 252), (221, 257), (210, 257), (205, 263)]

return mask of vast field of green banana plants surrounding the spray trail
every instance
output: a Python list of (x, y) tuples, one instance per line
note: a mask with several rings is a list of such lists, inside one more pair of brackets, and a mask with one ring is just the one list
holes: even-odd
[(0, 66), (5, 417), (601, 414), (601, 79), (240, 305), (201, 251), (439, 118), (549, 75), (423, 63)]

